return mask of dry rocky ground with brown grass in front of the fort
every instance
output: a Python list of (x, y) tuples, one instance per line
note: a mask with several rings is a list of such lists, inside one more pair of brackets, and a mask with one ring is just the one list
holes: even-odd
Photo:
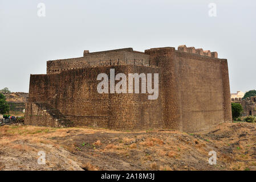
[[(256, 170), (256, 124), (201, 133), (0, 126), (0, 170)], [(46, 164), (38, 164), (38, 152)], [(217, 152), (210, 165), (209, 151)]]

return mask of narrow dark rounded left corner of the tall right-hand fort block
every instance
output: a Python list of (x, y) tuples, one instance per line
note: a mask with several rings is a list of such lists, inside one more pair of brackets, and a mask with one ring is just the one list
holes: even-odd
[(182, 131), (182, 110), (178, 90), (178, 73), (175, 62), (175, 48), (152, 48), (145, 50), (152, 65), (161, 68), (160, 98), (164, 128)]

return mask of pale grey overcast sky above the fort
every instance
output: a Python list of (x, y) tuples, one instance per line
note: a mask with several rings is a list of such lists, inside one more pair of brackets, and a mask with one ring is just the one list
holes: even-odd
[[(41, 2), (45, 17), (38, 16)], [(209, 16), (209, 3), (217, 16)], [(227, 59), (231, 92), (256, 88), (256, 1), (0, 0), (0, 89), (29, 92), (30, 74), (45, 74), (47, 60), (80, 57), (84, 49), (182, 44)]]

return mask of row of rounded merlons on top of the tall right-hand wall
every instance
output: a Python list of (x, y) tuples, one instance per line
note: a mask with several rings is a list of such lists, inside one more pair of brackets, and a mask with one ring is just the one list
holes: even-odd
[(204, 51), (202, 48), (194, 48), (194, 47), (186, 47), (186, 45), (178, 46), (178, 51), (188, 52), (188, 53), (196, 53), (202, 56), (215, 57), (218, 58), (217, 52), (210, 52), (209, 50)]

